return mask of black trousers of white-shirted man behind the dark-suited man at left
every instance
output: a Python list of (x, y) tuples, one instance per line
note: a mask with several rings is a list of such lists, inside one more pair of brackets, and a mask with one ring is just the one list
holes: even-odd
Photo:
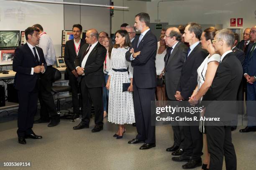
[[(40, 101), (40, 118), (42, 120), (58, 119), (54, 97), (51, 94), (52, 77), (54, 76), (54, 69), (48, 66), (44, 74), (40, 76), (40, 90), (39, 90), (39, 101)], [(50, 116), (50, 117), (49, 117)]]

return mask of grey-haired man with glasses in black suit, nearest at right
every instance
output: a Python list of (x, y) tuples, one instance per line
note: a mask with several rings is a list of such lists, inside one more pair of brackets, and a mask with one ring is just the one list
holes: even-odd
[[(237, 92), (243, 76), (241, 62), (231, 48), (234, 44), (234, 34), (231, 30), (223, 29), (216, 32), (212, 41), (215, 51), (220, 53), (220, 65), (216, 71), (212, 85), (203, 97), (203, 101), (236, 101)], [(219, 104), (220, 105), (220, 104)], [(208, 108), (210, 104), (207, 106)], [(206, 113), (226, 114), (227, 108), (221, 105), (214, 109), (207, 109)], [(228, 107), (228, 111), (233, 108)], [(222, 112), (221, 112), (222, 111)], [(230, 119), (232, 120), (232, 119)], [(223, 156), (227, 170), (236, 170), (236, 152), (231, 138), (231, 127), (221, 121), (217, 124), (207, 124), (207, 144), (210, 153), (210, 170), (221, 170)]]

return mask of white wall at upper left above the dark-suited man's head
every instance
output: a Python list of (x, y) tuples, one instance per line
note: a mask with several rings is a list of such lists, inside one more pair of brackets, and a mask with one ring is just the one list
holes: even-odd
[[(56, 0), (63, 1), (63, 0)], [(0, 0), (0, 30), (25, 30), (39, 23), (54, 42), (56, 56), (61, 56), (61, 30), (64, 28), (63, 5)], [(5, 18), (5, 9), (13, 8), (14, 18)], [(18, 21), (17, 10), (25, 13), (25, 20)]]

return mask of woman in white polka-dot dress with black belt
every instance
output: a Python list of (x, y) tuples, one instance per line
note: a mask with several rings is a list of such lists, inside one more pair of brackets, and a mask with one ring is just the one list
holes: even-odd
[[(125, 53), (130, 47), (128, 32), (126, 30), (116, 31), (106, 85), (106, 88), (109, 89), (108, 121), (119, 125), (118, 131), (113, 135), (116, 139), (123, 138), (125, 134), (124, 124), (135, 123), (132, 94), (133, 67), (131, 62), (125, 59)], [(123, 88), (124, 83), (129, 84), (128, 88)]]

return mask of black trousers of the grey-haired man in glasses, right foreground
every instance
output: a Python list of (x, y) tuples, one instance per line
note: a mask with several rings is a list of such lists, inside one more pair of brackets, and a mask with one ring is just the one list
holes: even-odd
[(225, 156), (226, 170), (236, 170), (236, 152), (230, 126), (207, 126), (207, 145), (210, 153), (210, 170), (222, 170)]

